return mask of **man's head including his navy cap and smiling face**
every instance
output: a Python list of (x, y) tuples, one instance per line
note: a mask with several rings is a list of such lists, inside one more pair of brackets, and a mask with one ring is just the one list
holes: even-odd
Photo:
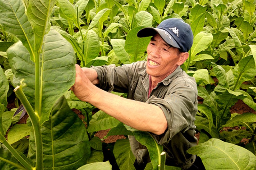
[(193, 43), (190, 26), (178, 18), (166, 19), (157, 28), (143, 28), (137, 36), (152, 36), (147, 48), (147, 72), (156, 82), (162, 81), (187, 60)]

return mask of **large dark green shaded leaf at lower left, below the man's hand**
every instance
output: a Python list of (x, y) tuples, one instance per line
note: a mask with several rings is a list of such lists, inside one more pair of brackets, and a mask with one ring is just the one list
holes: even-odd
[[(77, 130), (79, 129), (79, 130)], [(50, 119), (43, 124), (44, 169), (77, 169), (90, 156), (89, 138), (84, 123), (61, 97), (52, 108)], [(34, 132), (30, 134), (28, 157), (35, 160)]]

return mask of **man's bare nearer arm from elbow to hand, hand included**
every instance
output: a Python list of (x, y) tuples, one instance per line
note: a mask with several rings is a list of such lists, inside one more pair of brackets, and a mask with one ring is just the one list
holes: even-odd
[(87, 73), (83, 70), (76, 65), (76, 82), (70, 88), (80, 100), (91, 103), (135, 129), (149, 131), (156, 135), (163, 134), (167, 129), (167, 121), (160, 107), (101, 90), (91, 83), (95, 80), (95, 76), (87, 78)]

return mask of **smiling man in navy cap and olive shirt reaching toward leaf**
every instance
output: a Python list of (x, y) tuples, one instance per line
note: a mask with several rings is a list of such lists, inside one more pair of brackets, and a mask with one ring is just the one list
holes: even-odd
[[(124, 124), (151, 132), (164, 147), (166, 165), (196, 169), (196, 156), (186, 151), (197, 144), (197, 87), (195, 79), (180, 68), (193, 43), (191, 28), (182, 19), (170, 18), (157, 28), (141, 29), (137, 36), (152, 36), (147, 61), (119, 67), (76, 65), (76, 82), (71, 90), (80, 100)], [(127, 93), (127, 99), (109, 93), (112, 90)], [(134, 137), (129, 140), (136, 157), (134, 166), (144, 169), (150, 161), (148, 150)]]

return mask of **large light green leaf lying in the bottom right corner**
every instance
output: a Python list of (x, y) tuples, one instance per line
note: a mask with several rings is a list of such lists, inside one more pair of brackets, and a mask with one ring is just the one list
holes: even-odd
[(198, 155), (205, 169), (255, 169), (256, 156), (235, 144), (220, 139), (210, 139), (190, 149), (188, 153)]

